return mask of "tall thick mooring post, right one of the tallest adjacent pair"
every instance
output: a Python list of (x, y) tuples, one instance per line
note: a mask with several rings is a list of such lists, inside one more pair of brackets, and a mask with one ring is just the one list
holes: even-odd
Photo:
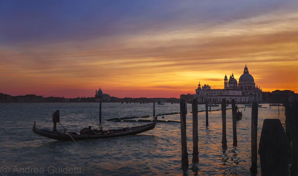
[(198, 151), (198, 102), (197, 99), (192, 101), (192, 162), (199, 162)]

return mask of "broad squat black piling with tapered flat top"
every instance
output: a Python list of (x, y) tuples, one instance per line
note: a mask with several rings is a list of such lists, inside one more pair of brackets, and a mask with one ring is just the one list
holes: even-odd
[(279, 119), (265, 119), (259, 143), (262, 176), (289, 175), (289, 147)]

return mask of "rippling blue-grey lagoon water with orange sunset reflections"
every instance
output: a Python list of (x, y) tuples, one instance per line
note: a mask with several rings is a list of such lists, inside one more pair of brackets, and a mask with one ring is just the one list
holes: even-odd
[[(187, 169), (181, 169), (180, 123), (158, 122), (153, 130), (134, 136), (109, 139), (56, 141), (32, 132), (37, 128), (52, 130), (52, 114), (60, 110), (60, 123), (68, 131), (83, 127), (103, 127), (104, 130), (138, 126), (146, 122), (113, 122), (114, 117), (146, 116), (153, 120), (153, 103), (103, 103), (99, 123), (99, 103), (1, 103), (0, 168), (2, 175), (252, 175), (251, 167), (251, 108), (238, 104), (247, 118), (237, 121), (238, 145), (233, 146), (232, 114), (227, 110), (227, 150), (222, 149), (221, 111), (198, 113), (199, 162), (192, 160), (192, 114), (187, 104)], [(258, 148), (263, 120), (278, 118), (285, 122), (282, 107), (258, 108)], [(212, 110), (221, 107), (211, 107)], [(227, 108), (231, 108), (231, 105)], [(198, 110), (205, 110), (204, 104)], [(180, 104), (155, 104), (155, 114), (180, 112)], [(180, 114), (165, 115), (159, 120), (180, 121)], [(57, 125), (58, 131), (63, 128)], [(258, 173), (261, 175), (258, 155)]]

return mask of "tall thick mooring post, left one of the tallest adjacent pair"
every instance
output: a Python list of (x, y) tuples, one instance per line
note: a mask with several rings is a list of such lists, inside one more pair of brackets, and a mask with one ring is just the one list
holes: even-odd
[(187, 141), (186, 141), (186, 114), (185, 114), (185, 100), (180, 101), (180, 124), (181, 124), (181, 151), (182, 167), (188, 166), (188, 153), (187, 153)]

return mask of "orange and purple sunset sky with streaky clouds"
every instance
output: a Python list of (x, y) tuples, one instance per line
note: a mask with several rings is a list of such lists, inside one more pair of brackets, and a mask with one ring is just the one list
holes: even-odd
[(179, 98), (247, 65), (298, 92), (297, 0), (0, 0), (0, 93)]

